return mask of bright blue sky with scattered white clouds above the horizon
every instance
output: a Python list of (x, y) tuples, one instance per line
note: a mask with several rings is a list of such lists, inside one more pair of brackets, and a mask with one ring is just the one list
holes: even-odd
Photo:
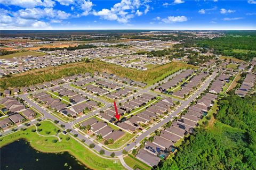
[(256, 0), (1, 0), (1, 30), (256, 30)]

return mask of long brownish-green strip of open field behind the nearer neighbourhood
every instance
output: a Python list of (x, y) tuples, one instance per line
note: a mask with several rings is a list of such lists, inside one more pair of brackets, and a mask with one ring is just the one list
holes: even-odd
[(36, 70), (33, 73), (17, 74), (15, 77), (11, 76), (9, 78), (1, 79), (0, 84), (2, 89), (26, 87), (45, 81), (60, 79), (69, 75), (85, 72), (93, 73), (94, 71), (114, 73), (121, 77), (153, 84), (164, 79), (166, 76), (185, 68), (193, 69), (195, 66), (186, 63), (171, 62), (147, 71), (139, 71), (100, 61), (91, 61), (89, 63), (77, 62), (58, 67), (49, 67), (49, 69), (43, 71)]

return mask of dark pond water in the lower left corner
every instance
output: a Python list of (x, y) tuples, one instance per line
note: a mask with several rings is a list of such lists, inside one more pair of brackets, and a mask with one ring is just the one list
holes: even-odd
[(32, 148), (25, 140), (15, 141), (0, 149), (0, 169), (10, 170), (66, 170), (86, 169), (68, 152), (43, 153)]

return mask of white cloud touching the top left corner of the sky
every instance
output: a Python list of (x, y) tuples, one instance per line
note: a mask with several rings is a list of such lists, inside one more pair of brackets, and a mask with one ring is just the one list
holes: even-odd
[(1, 0), (5, 6), (20, 6), (23, 8), (33, 8), (35, 6), (53, 7), (55, 2), (52, 0)]

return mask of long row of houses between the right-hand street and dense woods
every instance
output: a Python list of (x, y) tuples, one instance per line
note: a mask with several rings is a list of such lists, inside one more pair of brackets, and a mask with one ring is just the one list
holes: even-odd
[(209, 93), (202, 96), (197, 104), (188, 108), (185, 115), (172, 122), (170, 127), (163, 129), (159, 136), (155, 135), (153, 142), (145, 142), (144, 148), (139, 150), (136, 157), (150, 166), (156, 166), (161, 158), (165, 158), (170, 151), (175, 150), (174, 143), (193, 132), (194, 127), (198, 125), (197, 122), (209, 111), (215, 99), (217, 95)]

